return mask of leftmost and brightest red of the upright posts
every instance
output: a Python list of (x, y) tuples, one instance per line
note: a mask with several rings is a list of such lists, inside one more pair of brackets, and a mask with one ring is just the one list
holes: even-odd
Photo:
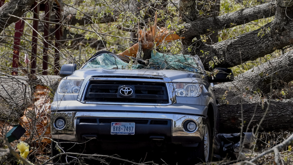
[[(21, 24), (22, 24), (21, 20), (15, 23), (12, 68), (18, 68), (18, 65), (16, 64), (14, 59), (16, 58), (19, 60), (20, 37), (22, 36), (21, 32), (23, 31), (23, 27), (21, 27)], [(17, 70), (12, 71), (12, 75), (17, 75), (17, 74), (18, 74)]]

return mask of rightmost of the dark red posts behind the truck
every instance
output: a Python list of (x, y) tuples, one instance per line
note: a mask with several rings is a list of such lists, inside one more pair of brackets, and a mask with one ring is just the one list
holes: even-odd
[[(57, 5), (57, 10), (56, 10), (56, 23), (60, 23), (61, 21), (61, 15), (60, 15), (60, 11), (61, 11), (61, 6)], [(55, 25), (55, 59), (54, 59), (54, 74), (58, 75), (59, 74), (59, 60), (60, 60), (60, 36), (61, 36), (61, 26), (59, 24)]]

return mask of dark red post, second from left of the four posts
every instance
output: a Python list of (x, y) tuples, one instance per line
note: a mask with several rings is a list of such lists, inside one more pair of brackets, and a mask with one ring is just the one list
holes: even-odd
[(36, 68), (37, 68), (37, 50), (38, 50), (38, 26), (39, 26), (39, 21), (38, 21), (38, 15), (39, 15), (39, 5), (38, 2), (35, 2), (35, 7), (33, 8), (34, 11), (34, 20), (33, 20), (33, 38), (32, 38), (32, 55), (31, 55), (31, 63), (30, 63), (30, 73), (35, 74), (36, 73)]

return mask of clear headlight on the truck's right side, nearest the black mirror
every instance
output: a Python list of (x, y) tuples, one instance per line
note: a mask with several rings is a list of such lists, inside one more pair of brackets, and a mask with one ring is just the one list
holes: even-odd
[(176, 96), (197, 97), (202, 92), (202, 86), (198, 83), (173, 83)]

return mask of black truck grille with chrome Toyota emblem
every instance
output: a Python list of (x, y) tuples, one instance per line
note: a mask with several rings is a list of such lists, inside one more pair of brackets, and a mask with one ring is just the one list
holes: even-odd
[(141, 81), (92, 80), (84, 101), (125, 103), (169, 103), (166, 84)]

